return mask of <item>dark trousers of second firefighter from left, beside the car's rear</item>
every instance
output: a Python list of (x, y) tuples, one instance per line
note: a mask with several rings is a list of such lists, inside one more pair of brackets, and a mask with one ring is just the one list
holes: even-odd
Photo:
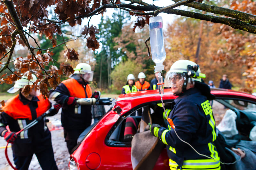
[(69, 154), (72, 153), (72, 149), (77, 145), (77, 139), (84, 129), (67, 130), (64, 129), (65, 142), (67, 143)]

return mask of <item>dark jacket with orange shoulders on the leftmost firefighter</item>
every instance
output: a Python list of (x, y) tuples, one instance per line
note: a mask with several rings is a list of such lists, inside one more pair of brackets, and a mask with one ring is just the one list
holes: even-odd
[[(27, 100), (21, 93), (12, 97), (2, 107), (4, 112), (0, 115), (0, 134), (7, 125), (13, 132), (20, 131), (50, 107), (50, 101), (48, 98), (44, 100), (42, 95), (33, 97), (31, 101)], [(27, 156), (41, 152), (51, 145), (51, 133), (42, 119), (36, 125), (20, 133), (12, 144), (12, 152), (17, 156)]]

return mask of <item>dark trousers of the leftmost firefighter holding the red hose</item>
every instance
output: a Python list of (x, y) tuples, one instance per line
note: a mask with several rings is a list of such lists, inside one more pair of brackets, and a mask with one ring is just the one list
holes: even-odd
[[(42, 152), (35, 153), (35, 155), (43, 170), (58, 170), (54, 160), (52, 146), (46, 148)], [(19, 170), (28, 170), (32, 156), (33, 154), (28, 156), (17, 156), (13, 154), (13, 161), (16, 165), (16, 168)]]

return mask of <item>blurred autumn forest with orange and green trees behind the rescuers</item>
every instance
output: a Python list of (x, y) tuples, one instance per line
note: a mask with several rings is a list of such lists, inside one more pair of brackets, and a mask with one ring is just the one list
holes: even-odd
[[(256, 5), (253, 1), (211, 3), (256, 15)], [(49, 12), (51, 13), (51, 10)], [(155, 77), (155, 63), (148, 56), (148, 49), (144, 43), (149, 37), (148, 24), (144, 23), (145, 26), (141, 27), (137, 23), (138, 20), (134, 20), (129, 12), (122, 10), (114, 11), (111, 17), (103, 15), (95, 29), (99, 42), (99, 48), (95, 51), (87, 47), (88, 41), (84, 39), (62, 43), (63, 37), (58, 34), (53, 43), (49, 37), (33, 33), (36, 41), (30, 39), (29, 43), (36, 46), (37, 42), (44, 49), (60, 44), (50, 50), (55, 62), (53, 60), (49, 65), (60, 67), (58, 63), (64, 62), (75, 68), (78, 63), (88, 63), (94, 71), (91, 82), (93, 90), (120, 94), (128, 74), (133, 74), (137, 78), (139, 72), (144, 72), (148, 82)], [(80, 36), (85, 30), (81, 25), (72, 27), (66, 25), (64, 28), (64, 39)], [(3, 29), (1, 31), (3, 32)], [(255, 34), (236, 30), (227, 25), (176, 16), (164, 27), (164, 43), (166, 51), (166, 59), (163, 63), (164, 76), (172, 63), (186, 59), (199, 64), (202, 73), (206, 74), (206, 83), (213, 80), (218, 87), (222, 75), (227, 74), (233, 89), (249, 93), (255, 89)], [(77, 60), (67, 60), (65, 46), (76, 51)], [(149, 41), (148, 46), (150, 48)], [(12, 54), (12, 62), (17, 58), (27, 57), (28, 52), (27, 47), (19, 45)], [(1, 62), (4, 63), (6, 60), (4, 58)], [(10, 70), (15, 71), (14, 65), (9, 65), (9, 70), (0, 73), (1, 79), (12, 74)], [(62, 75), (60, 80), (67, 78), (68, 75)], [(13, 86), (12, 81), (9, 83), (5, 79), (5, 83), (1, 84), (0, 92), (6, 92)]]

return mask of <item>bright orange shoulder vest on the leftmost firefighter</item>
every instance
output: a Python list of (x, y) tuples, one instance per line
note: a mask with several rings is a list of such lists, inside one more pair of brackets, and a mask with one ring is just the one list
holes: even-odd
[[(42, 94), (38, 96), (38, 100), (38, 107), (36, 108), (37, 117), (43, 115), (51, 107), (51, 102), (48, 100), (48, 98), (44, 100)], [(24, 105), (20, 101), (19, 94), (7, 100), (2, 109), (7, 115), (11, 116), (13, 119), (32, 120), (32, 113), (30, 111), (30, 108), (28, 104)]]

